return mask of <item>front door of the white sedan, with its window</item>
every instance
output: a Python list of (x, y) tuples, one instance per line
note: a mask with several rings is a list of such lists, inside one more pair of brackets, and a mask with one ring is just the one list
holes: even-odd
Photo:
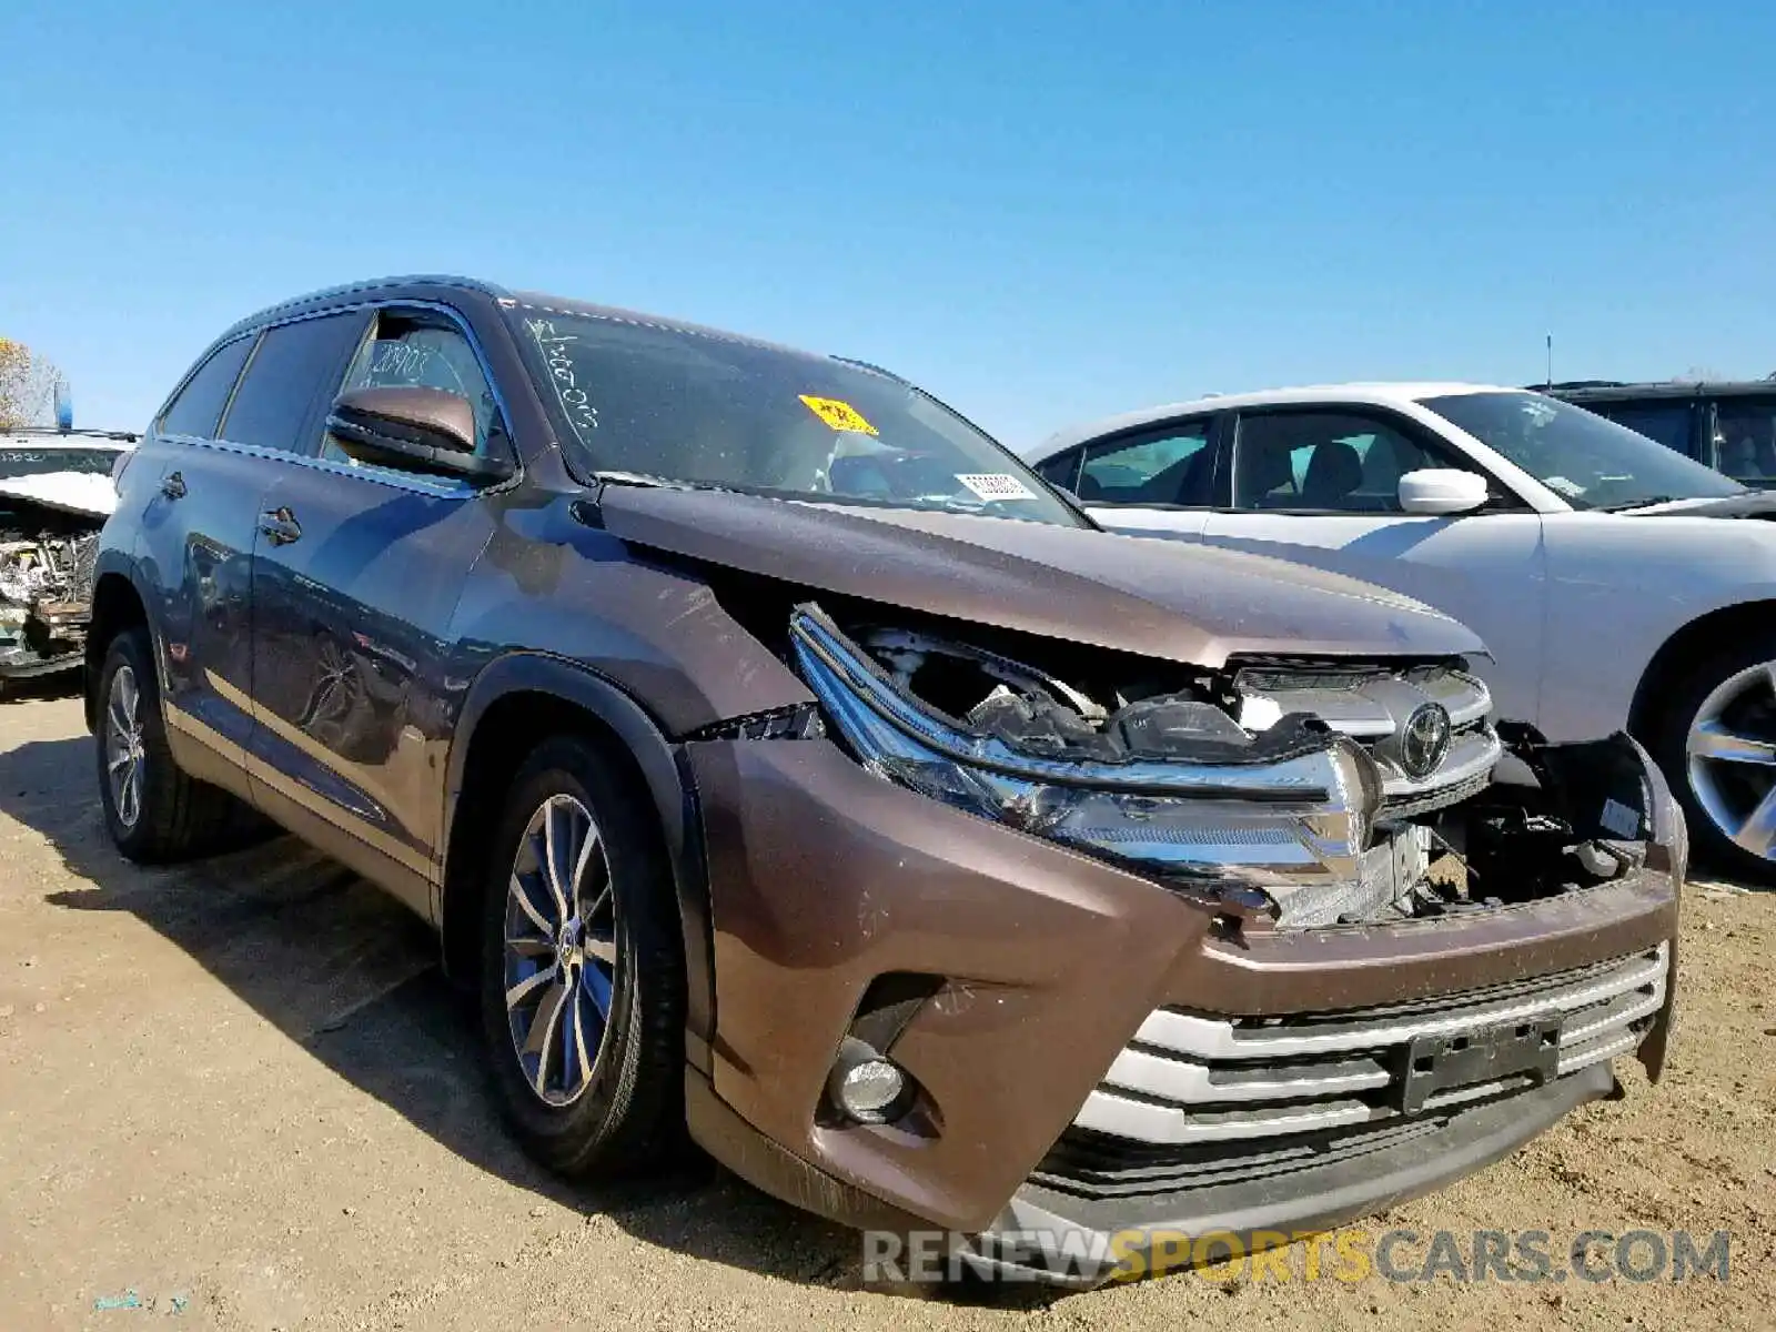
[(1545, 641), (1542, 517), (1488, 478), (1487, 510), (1405, 513), (1399, 476), (1476, 464), (1380, 408), (1259, 408), (1227, 432), (1229, 503), (1202, 540), (1328, 568), (1462, 620), (1492, 650), (1476, 662), (1499, 716), (1534, 721)]

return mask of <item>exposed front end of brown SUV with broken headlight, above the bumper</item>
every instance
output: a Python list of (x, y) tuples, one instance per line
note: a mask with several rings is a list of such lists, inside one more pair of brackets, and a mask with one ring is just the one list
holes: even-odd
[[(794, 661), (865, 767), (1197, 897), (1227, 929), (1488, 911), (1646, 856), (1639, 748), (1494, 728), (1462, 661), (1151, 662), (1146, 678), (1112, 654), (1050, 671), (989, 634), (790, 613)], [(1536, 785), (1494, 781), (1506, 753)]]

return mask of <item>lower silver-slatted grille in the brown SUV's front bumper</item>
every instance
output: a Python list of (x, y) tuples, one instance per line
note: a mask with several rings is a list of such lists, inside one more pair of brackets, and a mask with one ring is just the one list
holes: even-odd
[[(1405, 1119), (1414, 1041), (1559, 1019), (1558, 1076), (1634, 1050), (1664, 1007), (1669, 954), (1645, 954), (1435, 1000), (1286, 1019), (1158, 1009), (1117, 1055), (1074, 1128), (1201, 1144)], [(1552, 1035), (1549, 1037), (1552, 1041)], [(1526, 1076), (1446, 1087), (1423, 1112), (1504, 1096)]]

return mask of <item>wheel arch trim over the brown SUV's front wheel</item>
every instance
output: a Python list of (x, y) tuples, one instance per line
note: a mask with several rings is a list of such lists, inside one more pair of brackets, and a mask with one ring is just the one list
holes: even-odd
[(646, 787), (659, 815), (684, 931), (687, 1055), (702, 1067), (714, 1032), (714, 970), (696, 789), (678, 748), (654, 718), (577, 662), (513, 652), (487, 666), (469, 689), (446, 762), (444, 865), (433, 911), (444, 970), (453, 979), (465, 979), (478, 964), (476, 908), (487, 886), (485, 838), (503, 808), (503, 783), (542, 739), (563, 730), (591, 737), (625, 764)]

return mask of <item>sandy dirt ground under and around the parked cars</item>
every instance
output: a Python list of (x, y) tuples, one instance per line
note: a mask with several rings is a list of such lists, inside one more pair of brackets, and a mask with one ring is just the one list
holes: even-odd
[[(69, 698), (0, 703), (0, 1328), (1772, 1327), (1776, 893), (1685, 892), (1669, 1074), (1375, 1229), (1732, 1234), (1730, 1279), (1172, 1275), (936, 1298), (716, 1172), (574, 1188), (483, 1092), (424, 929), (282, 838), (144, 872)], [(1423, 1257), (1423, 1250), (1419, 1250)]]

